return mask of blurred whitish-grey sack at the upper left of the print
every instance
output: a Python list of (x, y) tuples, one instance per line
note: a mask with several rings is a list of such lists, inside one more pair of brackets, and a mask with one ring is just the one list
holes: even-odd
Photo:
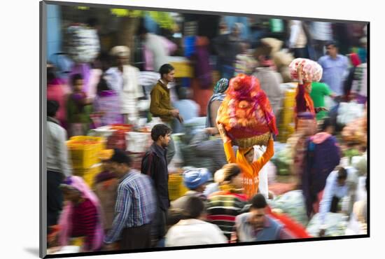
[(99, 54), (100, 43), (96, 29), (86, 25), (71, 25), (66, 29), (66, 52), (76, 63), (89, 63)]

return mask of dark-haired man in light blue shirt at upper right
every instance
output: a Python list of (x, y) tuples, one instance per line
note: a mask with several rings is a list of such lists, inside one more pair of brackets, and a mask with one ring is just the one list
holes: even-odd
[(338, 54), (337, 44), (329, 41), (325, 44), (326, 54), (318, 59), (323, 68), (322, 82), (330, 86), (337, 96), (343, 94), (344, 77), (348, 69), (348, 59)]

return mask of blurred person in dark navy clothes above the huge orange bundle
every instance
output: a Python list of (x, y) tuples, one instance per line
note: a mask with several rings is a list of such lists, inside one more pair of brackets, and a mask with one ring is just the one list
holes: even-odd
[(231, 79), (234, 76), (234, 63), (241, 51), (241, 24), (236, 22), (230, 34), (223, 34), (214, 39), (214, 48), (218, 53), (218, 69), (221, 78)]

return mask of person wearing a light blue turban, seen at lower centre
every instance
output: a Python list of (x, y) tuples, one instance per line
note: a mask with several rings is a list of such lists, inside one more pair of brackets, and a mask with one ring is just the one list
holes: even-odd
[(207, 182), (211, 176), (206, 168), (197, 168), (187, 170), (183, 172), (183, 184), (189, 189), (185, 195), (171, 202), (172, 209), (183, 209), (189, 197), (199, 197), (203, 201), (207, 200), (207, 197), (203, 194), (206, 188)]

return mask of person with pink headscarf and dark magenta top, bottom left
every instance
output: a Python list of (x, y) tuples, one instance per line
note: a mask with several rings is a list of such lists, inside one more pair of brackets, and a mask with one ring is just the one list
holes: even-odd
[(66, 204), (59, 219), (59, 244), (66, 246), (80, 239), (81, 252), (99, 251), (104, 232), (97, 196), (79, 176), (70, 176), (60, 187)]

